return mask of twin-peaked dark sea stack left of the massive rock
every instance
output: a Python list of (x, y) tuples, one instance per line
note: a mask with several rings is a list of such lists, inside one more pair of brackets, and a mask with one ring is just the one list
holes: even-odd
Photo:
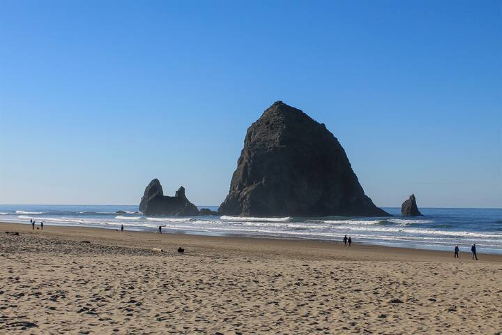
[(158, 179), (146, 186), (139, 211), (146, 215), (197, 216), (199, 209), (185, 197), (185, 188), (181, 186), (174, 197), (164, 195)]

